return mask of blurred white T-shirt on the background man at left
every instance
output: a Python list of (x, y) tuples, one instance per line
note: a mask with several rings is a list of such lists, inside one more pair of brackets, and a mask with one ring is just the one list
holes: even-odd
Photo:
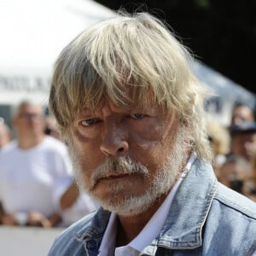
[(5, 212), (57, 211), (53, 190), (59, 178), (71, 175), (67, 146), (53, 137), (29, 149), (10, 143), (0, 153), (0, 201)]

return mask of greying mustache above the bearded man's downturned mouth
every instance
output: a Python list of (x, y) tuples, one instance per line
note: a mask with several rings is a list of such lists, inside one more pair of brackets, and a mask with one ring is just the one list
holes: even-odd
[(131, 160), (130, 157), (108, 158), (93, 172), (90, 177), (90, 183), (94, 187), (100, 179), (119, 174), (139, 174), (144, 177), (148, 174), (148, 168), (139, 162)]

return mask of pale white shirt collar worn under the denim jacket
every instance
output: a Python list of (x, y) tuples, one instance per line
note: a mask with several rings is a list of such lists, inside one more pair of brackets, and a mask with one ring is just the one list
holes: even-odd
[[(162, 226), (165, 224), (170, 206), (173, 198), (176, 195), (177, 189), (189, 172), (195, 160), (195, 154), (191, 154), (187, 165), (185, 166), (181, 176), (178, 178), (171, 192), (167, 195), (166, 200), (161, 204), (159, 209), (154, 213), (153, 217), (149, 219), (148, 224), (145, 225), (143, 230), (127, 245), (123, 247), (116, 247), (114, 251), (115, 256), (137, 256), (147, 247), (156, 236), (160, 234)], [(117, 215), (111, 212), (107, 229), (102, 237), (102, 243), (99, 248), (99, 256), (110, 256), (115, 247), (116, 232), (117, 232)]]

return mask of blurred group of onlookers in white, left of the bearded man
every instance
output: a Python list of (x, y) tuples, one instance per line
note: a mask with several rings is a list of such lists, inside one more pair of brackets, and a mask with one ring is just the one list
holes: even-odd
[(96, 210), (79, 193), (67, 145), (43, 106), (20, 102), (12, 124), (13, 133), (0, 124), (0, 224), (67, 226)]

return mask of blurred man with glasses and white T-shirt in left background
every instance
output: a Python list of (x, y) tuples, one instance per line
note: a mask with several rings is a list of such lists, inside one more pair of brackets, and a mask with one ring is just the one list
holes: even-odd
[(0, 154), (0, 223), (52, 227), (61, 222), (55, 183), (70, 175), (65, 144), (44, 134), (42, 106), (21, 102), (13, 125), (17, 139)]

